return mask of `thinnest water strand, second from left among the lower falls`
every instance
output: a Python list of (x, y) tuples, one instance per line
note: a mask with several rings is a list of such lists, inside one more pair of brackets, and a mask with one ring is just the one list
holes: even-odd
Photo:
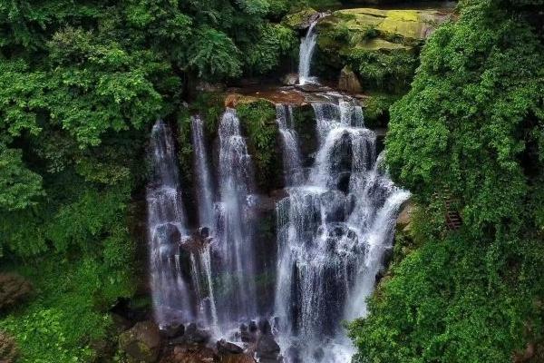
[(198, 186), (199, 225), (200, 227), (211, 228), (214, 224), (213, 189), (204, 142), (204, 126), (199, 116), (191, 118), (191, 132), (195, 163), (195, 184)]

